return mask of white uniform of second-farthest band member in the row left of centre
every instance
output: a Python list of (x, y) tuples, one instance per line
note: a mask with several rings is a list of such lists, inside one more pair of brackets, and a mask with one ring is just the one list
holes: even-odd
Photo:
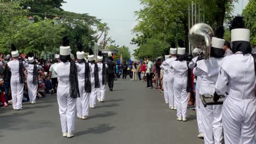
[(96, 106), (97, 99), (97, 88), (95, 88), (95, 79), (94, 79), (94, 63), (89, 63), (90, 66), (90, 75), (91, 75), (91, 93), (90, 93), (90, 106)]

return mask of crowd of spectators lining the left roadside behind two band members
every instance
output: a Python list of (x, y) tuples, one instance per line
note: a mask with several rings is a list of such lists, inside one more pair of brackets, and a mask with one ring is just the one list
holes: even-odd
[[(21, 59), (24, 59), (26, 61), (27, 57), (20, 57)], [(10, 55), (4, 55), (2, 52), (0, 52), (0, 106), (7, 107), (8, 105), (12, 104), (11, 100), (11, 88), (10, 88), (10, 77), (11, 72), (8, 68), (8, 62), (12, 61), (13, 58), (11, 58)], [(38, 71), (38, 91), (37, 91), (37, 99), (45, 97), (45, 94), (53, 94), (56, 93), (56, 82), (54, 83), (50, 79), (51, 76), (49, 76), (49, 69), (51, 67), (51, 64), (53, 63), (51, 60), (45, 60), (43, 58), (36, 59), (37, 64), (42, 66), (42, 69), (39, 69)], [(52, 70), (52, 69), (51, 69)], [(25, 85), (24, 85), (24, 96), (22, 99), (22, 102), (29, 101), (30, 98), (28, 97), (28, 89), (27, 89), (27, 70), (24, 69), (24, 75), (25, 75)], [(55, 89), (55, 91), (54, 91)]]

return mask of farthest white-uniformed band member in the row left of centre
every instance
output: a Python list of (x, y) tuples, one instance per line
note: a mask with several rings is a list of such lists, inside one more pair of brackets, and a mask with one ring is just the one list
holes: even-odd
[(106, 84), (107, 84), (106, 70), (108, 68), (108, 65), (103, 63), (103, 56), (101, 51), (98, 52), (97, 61), (98, 61), (98, 77), (100, 80), (100, 88), (98, 88), (97, 98), (98, 98), (98, 101), (103, 103), (105, 99), (105, 92), (106, 92)]

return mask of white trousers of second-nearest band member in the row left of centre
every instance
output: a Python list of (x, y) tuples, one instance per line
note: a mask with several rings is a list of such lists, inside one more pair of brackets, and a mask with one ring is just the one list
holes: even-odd
[(77, 117), (89, 116), (90, 94), (85, 93), (84, 82), (79, 82), (80, 98), (77, 98)]

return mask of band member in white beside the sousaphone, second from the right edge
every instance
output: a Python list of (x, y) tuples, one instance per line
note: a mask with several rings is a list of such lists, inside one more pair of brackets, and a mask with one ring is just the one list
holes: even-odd
[[(213, 37), (211, 41), (211, 58), (207, 59), (207, 61), (205, 59), (197, 61), (197, 66), (193, 70), (195, 76), (202, 77), (200, 94), (214, 93), (214, 87), (219, 74), (219, 65), (222, 64), (222, 58), (225, 54), (223, 50), (225, 40), (222, 39), (224, 27), (218, 27), (215, 35), (216, 37)], [(221, 144), (223, 139), (222, 105), (207, 105), (207, 107), (201, 106), (200, 108), (202, 110), (202, 122), (205, 130), (205, 143)]]

